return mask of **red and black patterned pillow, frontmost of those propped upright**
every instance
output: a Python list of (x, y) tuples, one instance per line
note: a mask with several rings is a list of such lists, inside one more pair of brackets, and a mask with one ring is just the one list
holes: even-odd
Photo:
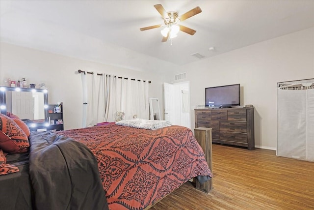
[[(0, 148), (7, 152), (26, 152), (29, 142), (25, 132), (20, 126), (9, 117), (0, 114)], [(4, 134), (4, 135), (3, 135)], [(9, 140), (8, 138), (9, 137)], [(18, 146), (19, 150), (13, 145)], [(9, 150), (6, 150), (9, 149)]]

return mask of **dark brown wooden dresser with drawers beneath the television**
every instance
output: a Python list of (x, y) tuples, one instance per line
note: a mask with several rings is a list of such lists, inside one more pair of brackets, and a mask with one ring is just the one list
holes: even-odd
[(195, 109), (195, 128), (211, 127), (212, 142), (255, 149), (254, 108)]

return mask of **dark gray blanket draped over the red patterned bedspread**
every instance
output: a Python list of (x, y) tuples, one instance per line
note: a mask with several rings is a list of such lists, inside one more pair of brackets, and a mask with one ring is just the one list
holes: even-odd
[(95, 156), (71, 138), (32, 132), (29, 173), (38, 210), (108, 210)]

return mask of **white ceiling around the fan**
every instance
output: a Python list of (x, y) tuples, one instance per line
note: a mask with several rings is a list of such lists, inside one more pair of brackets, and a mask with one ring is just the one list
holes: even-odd
[[(181, 23), (197, 32), (180, 31), (171, 46), (160, 29), (140, 31), (163, 23), (154, 4), (179, 16), (200, 6)], [(1, 42), (146, 68), (147, 60), (183, 65), (199, 60), (194, 53), (209, 58), (313, 26), (313, 0), (0, 0)]]

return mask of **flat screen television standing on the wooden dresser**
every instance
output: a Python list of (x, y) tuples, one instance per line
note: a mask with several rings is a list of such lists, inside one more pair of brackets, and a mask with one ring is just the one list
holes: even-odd
[(240, 106), (240, 84), (205, 88), (205, 106)]

